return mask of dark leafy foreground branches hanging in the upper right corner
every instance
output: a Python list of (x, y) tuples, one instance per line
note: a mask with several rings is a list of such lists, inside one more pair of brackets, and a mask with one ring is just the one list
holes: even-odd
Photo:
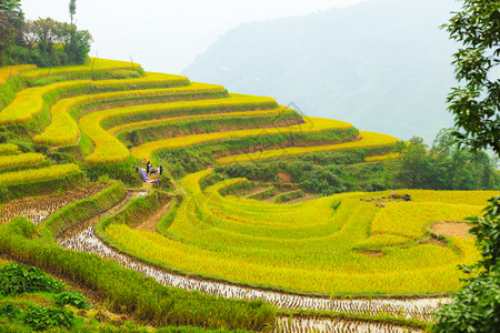
[(452, 89), (449, 110), (458, 129), (453, 134), (472, 150), (491, 148), (500, 154), (500, 2), (464, 0), (443, 28), (463, 48), (454, 53), (456, 77), (464, 85)]

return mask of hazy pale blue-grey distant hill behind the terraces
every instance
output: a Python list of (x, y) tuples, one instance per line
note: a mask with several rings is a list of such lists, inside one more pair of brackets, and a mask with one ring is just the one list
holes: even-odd
[(431, 141), (452, 125), (446, 98), (457, 47), (439, 26), (453, 0), (381, 0), (246, 23), (183, 71), (229, 90), (294, 102), (308, 115)]

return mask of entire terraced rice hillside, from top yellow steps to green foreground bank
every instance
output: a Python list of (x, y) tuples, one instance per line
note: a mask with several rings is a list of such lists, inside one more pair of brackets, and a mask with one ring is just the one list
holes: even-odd
[(397, 138), (137, 63), (0, 84), (2, 330), (424, 332), (499, 194), (391, 193)]

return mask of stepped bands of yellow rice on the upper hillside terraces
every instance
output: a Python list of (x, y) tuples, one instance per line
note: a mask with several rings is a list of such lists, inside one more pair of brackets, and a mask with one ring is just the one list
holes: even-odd
[[(292, 110), (280, 107), (271, 98), (227, 94), (223, 87), (191, 83), (187, 78), (160, 73), (144, 73), (139, 78), (88, 80), (78, 79), (78, 74), (93, 72), (97, 70), (120, 71), (139, 70), (139, 65), (127, 62), (113, 62), (97, 60), (92, 65), (68, 67), (48, 71), (46, 69), (28, 70), (22, 73), (27, 80), (36, 80), (43, 75), (59, 78), (66, 75), (64, 81), (28, 88), (20, 91), (16, 99), (0, 110), (0, 124), (18, 124), (33, 121), (33, 117), (50, 118), (50, 123), (39, 134), (33, 135), (33, 142), (52, 147), (64, 147), (80, 143), (81, 135), (90, 141), (92, 148), (86, 157), (88, 164), (117, 163), (127, 160), (130, 154), (139, 159), (152, 159), (153, 154), (161, 150), (183, 148), (202, 144), (210, 141), (221, 141), (234, 138), (269, 137), (282, 133), (313, 133), (336, 129), (351, 128), (346, 122), (303, 118), (303, 123), (282, 127), (276, 121), (273, 128), (272, 115), (279, 118), (283, 114), (293, 113)], [(71, 80), (71, 75), (76, 79)], [(38, 82), (38, 81), (33, 81)], [(56, 101), (48, 102), (49, 98), (56, 97)], [(170, 98), (164, 102), (149, 104), (140, 103), (133, 105), (133, 101), (150, 98)], [(213, 97), (213, 98), (212, 98)], [(129, 101), (127, 107), (110, 108), (104, 110), (92, 110), (92, 105), (109, 103), (111, 101)], [(126, 103), (126, 102), (123, 102)], [(46, 110), (46, 111), (44, 111)], [(88, 110), (88, 111), (84, 111)], [(43, 113), (46, 112), (46, 113)], [(266, 130), (252, 129), (252, 119), (268, 115), (270, 121)], [(184, 135), (182, 138), (170, 138), (166, 140), (153, 140), (144, 142), (140, 147), (132, 147), (129, 151), (116, 135), (137, 129), (158, 129), (164, 124), (176, 124), (192, 120), (220, 120), (223, 118), (244, 117), (248, 119), (248, 130), (226, 131), (214, 133), (201, 133)], [(297, 114), (296, 117), (300, 117)], [(277, 127), (278, 125), (278, 127)], [(282, 151), (289, 154), (303, 154), (314, 151), (328, 151), (338, 149), (350, 149), (359, 147), (390, 145), (396, 142), (394, 138), (366, 133), (360, 141), (344, 143), (343, 145), (321, 148), (298, 148), (294, 151)], [(266, 154), (276, 154), (274, 151)], [(263, 155), (262, 155), (263, 157)], [(249, 157), (234, 157), (234, 161), (244, 160)], [(227, 163), (229, 158), (220, 160)], [(253, 160), (253, 157), (250, 157)]]

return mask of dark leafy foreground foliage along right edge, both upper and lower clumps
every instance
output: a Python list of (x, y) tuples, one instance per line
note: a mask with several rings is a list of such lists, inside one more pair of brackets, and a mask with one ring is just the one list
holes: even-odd
[[(466, 87), (448, 98), (459, 131), (453, 135), (473, 151), (492, 149), (500, 157), (500, 2), (463, 0), (462, 10), (443, 26), (463, 44), (454, 54), (456, 77)], [(461, 130), (461, 131), (460, 131)], [(483, 216), (469, 218), (482, 260), (461, 269), (470, 274), (453, 303), (438, 313), (436, 332), (498, 332), (500, 327), (500, 196)]]

